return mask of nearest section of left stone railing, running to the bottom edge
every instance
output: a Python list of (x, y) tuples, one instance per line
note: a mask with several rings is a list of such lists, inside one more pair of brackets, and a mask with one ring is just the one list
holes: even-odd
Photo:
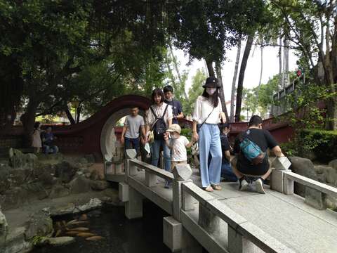
[[(194, 209), (194, 198), (199, 202), (199, 226), (211, 233), (217, 233), (218, 222), (222, 219), (228, 227), (228, 250), (230, 252), (254, 252), (253, 243), (265, 252), (293, 252), (282, 242), (262, 231), (258, 226), (244, 219), (232, 209), (205, 193), (192, 182), (183, 183), (183, 212)], [(191, 198), (192, 197), (192, 198)], [(205, 211), (206, 210), (206, 211)], [(206, 216), (206, 217), (204, 217)], [(203, 221), (206, 219), (206, 221)], [(251, 243), (247, 243), (249, 240)]]

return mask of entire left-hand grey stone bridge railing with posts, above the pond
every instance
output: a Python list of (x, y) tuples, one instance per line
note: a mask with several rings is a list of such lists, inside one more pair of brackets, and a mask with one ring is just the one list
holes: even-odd
[[(143, 216), (143, 199), (171, 216), (164, 218), (164, 243), (172, 252), (293, 252), (244, 217), (201, 190), (189, 179), (190, 167), (178, 164), (173, 173), (128, 159), (119, 198), (128, 219)], [(173, 189), (158, 185), (158, 177), (173, 181)]]

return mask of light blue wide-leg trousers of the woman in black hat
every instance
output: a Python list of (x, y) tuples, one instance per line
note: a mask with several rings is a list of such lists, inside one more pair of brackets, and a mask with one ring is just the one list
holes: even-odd
[[(209, 154), (211, 162), (208, 164)], [(220, 183), (221, 152), (218, 124), (203, 124), (199, 130), (199, 156), (202, 187)]]

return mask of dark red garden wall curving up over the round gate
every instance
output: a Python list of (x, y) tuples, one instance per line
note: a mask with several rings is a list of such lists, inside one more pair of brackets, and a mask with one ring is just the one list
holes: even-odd
[[(100, 134), (107, 119), (114, 113), (124, 108), (138, 106), (141, 110), (147, 110), (150, 106), (150, 100), (143, 96), (126, 95), (115, 98), (110, 103), (105, 105), (102, 110), (88, 119), (70, 126), (53, 126), (55, 136), (58, 136), (57, 145), (60, 146), (62, 152), (69, 153), (94, 153), (101, 156), (100, 150)], [(192, 122), (183, 119), (181, 124), (192, 126)], [(289, 141), (293, 134), (293, 130), (286, 122), (275, 122), (274, 118), (266, 119), (263, 122), (264, 129), (267, 129), (276, 138), (279, 143)], [(246, 122), (238, 122), (231, 124), (232, 131), (230, 132), (233, 139), (241, 131), (247, 129)], [(120, 138), (121, 127), (116, 127), (115, 133), (117, 138)], [(22, 136), (22, 127), (15, 126), (11, 137)]]

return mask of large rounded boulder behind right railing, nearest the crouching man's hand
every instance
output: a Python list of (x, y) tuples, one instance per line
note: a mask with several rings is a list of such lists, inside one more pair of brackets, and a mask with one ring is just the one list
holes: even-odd
[[(309, 159), (302, 157), (289, 157), (289, 160), (291, 161), (291, 171), (300, 174), (301, 176), (306, 176), (309, 179), (317, 180), (314, 164)], [(295, 183), (294, 192), (302, 197), (305, 197), (305, 186)]]

